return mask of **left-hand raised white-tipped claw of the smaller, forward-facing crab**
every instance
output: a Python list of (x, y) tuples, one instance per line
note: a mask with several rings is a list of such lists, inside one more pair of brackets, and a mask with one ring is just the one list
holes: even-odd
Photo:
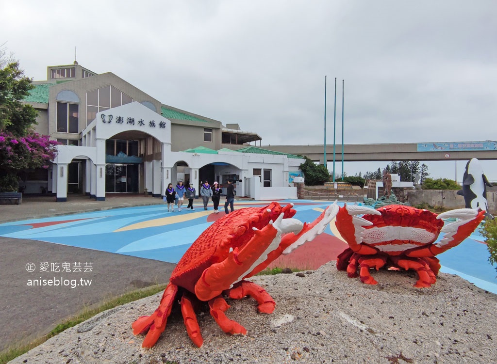
[(376, 249), (362, 244), (362, 235), (366, 230), (364, 226), (371, 226), (373, 223), (358, 215), (381, 215), (381, 213), (368, 207), (345, 204), (336, 215), (336, 228), (354, 252), (374, 254), (377, 252)]

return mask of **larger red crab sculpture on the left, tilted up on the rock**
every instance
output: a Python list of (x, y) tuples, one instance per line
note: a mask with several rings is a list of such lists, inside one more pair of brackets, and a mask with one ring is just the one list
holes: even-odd
[(312, 223), (302, 224), (292, 218), (296, 213), (292, 207), (293, 204), (281, 207), (273, 202), (263, 208), (240, 209), (209, 226), (178, 262), (159, 308), (133, 323), (135, 335), (148, 331), (142, 346), (155, 345), (179, 297), (186, 331), (198, 347), (203, 343), (193, 309), (198, 301), (208, 301), (217, 324), (234, 335), (245, 335), (247, 330), (226, 317), (230, 306), (223, 294), (235, 299), (250, 295), (257, 301), (259, 312), (272, 313), (276, 303), (271, 296), (245, 279), (265, 269), (281, 254), (321, 234), (338, 212), (338, 206), (333, 204)]

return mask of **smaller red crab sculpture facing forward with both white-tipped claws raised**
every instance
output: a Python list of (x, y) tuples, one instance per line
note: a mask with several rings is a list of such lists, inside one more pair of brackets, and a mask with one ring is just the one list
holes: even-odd
[[(362, 218), (358, 215), (363, 215)], [(336, 215), (336, 228), (348, 244), (336, 260), (339, 271), (363, 283), (376, 285), (369, 270), (386, 266), (414, 269), (419, 277), (414, 287), (430, 287), (436, 282), (440, 263), (435, 255), (466, 239), (484, 218), (485, 212), (458, 209), (436, 215), (409, 206), (390, 205), (373, 210), (345, 205)], [(444, 226), (442, 218), (458, 218)], [(434, 243), (439, 233), (444, 237)]]

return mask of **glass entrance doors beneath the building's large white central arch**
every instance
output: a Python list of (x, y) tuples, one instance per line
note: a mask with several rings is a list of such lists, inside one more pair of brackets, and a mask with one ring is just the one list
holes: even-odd
[(138, 164), (107, 164), (105, 166), (105, 192), (138, 192)]

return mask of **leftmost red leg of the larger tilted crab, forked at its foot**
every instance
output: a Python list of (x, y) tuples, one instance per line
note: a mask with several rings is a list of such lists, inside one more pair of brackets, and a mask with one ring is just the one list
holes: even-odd
[(174, 303), (174, 297), (177, 292), (178, 287), (169, 283), (162, 295), (161, 303), (155, 312), (150, 316), (141, 316), (133, 322), (134, 335), (144, 334), (148, 330), (142, 347), (152, 348), (157, 343), (157, 340), (159, 340), (162, 332), (166, 329), (167, 317), (171, 313), (172, 304)]

